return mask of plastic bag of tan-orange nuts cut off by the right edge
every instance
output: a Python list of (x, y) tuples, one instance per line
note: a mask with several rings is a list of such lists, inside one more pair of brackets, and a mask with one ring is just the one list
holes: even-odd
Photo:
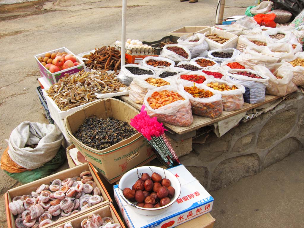
[(283, 59), (282, 62), (292, 70), (292, 82), (296, 86), (304, 85), (304, 53), (295, 53), (292, 59)]

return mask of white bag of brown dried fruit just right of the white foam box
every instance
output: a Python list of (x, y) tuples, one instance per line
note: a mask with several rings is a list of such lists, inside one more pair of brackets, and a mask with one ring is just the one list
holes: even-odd
[(267, 37), (261, 34), (241, 35), (237, 40), (237, 50), (243, 52), (248, 46), (266, 46), (268, 43), (273, 43), (273, 41), (267, 40)]

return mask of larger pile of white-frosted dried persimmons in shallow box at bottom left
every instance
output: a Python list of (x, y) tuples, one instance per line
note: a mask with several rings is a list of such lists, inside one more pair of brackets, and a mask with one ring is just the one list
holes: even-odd
[(83, 211), (103, 202), (101, 191), (90, 171), (63, 181), (55, 179), (43, 184), (31, 195), (19, 195), (9, 203), (9, 210), (17, 215), (16, 227), (42, 227), (57, 219)]

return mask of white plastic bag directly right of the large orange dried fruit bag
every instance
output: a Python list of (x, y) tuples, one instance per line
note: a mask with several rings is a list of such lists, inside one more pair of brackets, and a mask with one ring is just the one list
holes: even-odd
[(193, 97), (192, 94), (186, 92), (192, 107), (192, 113), (198, 116), (205, 116), (208, 118), (216, 118), (223, 112), (222, 96), (217, 91), (211, 91), (209, 87), (203, 84), (193, 84), (191, 82), (185, 82), (183, 85), (179, 85), (179, 89), (185, 89), (185, 87), (197, 87), (199, 90), (210, 91), (213, 93), (211, 97)]

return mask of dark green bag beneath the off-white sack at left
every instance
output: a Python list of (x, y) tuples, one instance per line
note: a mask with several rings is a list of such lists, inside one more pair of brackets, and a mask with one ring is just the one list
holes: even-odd
[(56, 171), (65, 161), (66, 150), (63, 146), (60, 147), (56, 156), (51, 160), (45, 163), (43, 166), (33, 169), (26, 170), (22, 173), (10, 173), (6, 170), (3, 170), (11, 178), (19, 181), (22, 184), (27, 184), (32, 181), (49, 176), (52, 172)]

